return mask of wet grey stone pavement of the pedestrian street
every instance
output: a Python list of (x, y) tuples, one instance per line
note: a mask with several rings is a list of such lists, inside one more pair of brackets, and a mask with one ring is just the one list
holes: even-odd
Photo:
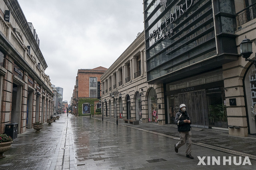
[[(186, 158), (186, 146), (174, 152), (176, 125), (130, 125), (122, 119), (116, 125), (115, 118), (104, 117), (102, 122), (102, 117), (64, 114), (52, 125), (45, 123), (41, 132), (35, 131), (18, 134), (4, 152), (6, 158), (0, 159), (1, 170), (256, 169), (256, 136), (230, 136), (226, 130), (192, 128), (194, 159)], [(212, 156), (220, 156), (220, 165), (212, 165)], [(228, 156), (230, 162), (223, 161)], [(240, 165), (235, 165), (233, 156), (237, 163), (242, 156)], [(242, 165), (245, 156), (252, 165), (248, 161)]]

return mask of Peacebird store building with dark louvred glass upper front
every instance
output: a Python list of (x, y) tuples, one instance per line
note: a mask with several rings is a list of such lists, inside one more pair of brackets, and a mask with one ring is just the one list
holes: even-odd
[(147, 82), (163, 87), (166, 124), (185, 103), (194, 127), (256, 134), (255, 66), (240, 55), (245, 36), (256, 52), (255, 3), (144, 0)]

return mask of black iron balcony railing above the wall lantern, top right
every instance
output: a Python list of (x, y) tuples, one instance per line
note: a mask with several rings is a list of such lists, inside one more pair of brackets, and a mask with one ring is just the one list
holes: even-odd
[(244, 8), (243, 10), (236, 13), (238, 19), (238, 26), (249, 22), (256, 18), (256, 3)]

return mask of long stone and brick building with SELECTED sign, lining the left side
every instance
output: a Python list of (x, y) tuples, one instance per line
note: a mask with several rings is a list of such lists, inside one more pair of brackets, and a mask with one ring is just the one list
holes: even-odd
[(18, 133), (46, 122), (54, 96), (39, 39), (17, 0), (0, 1), (0, 133), (18, 123)]

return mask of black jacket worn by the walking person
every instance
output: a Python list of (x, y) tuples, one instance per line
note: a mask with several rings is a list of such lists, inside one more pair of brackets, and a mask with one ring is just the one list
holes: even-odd
[[(181, 115), (181, 116), (180, 116)], [(191, 120), (190, 123), (184, 123), (184, 120), (190, 120), (190, 117), (187, 113), (187, 111), (182, 112), (181, 110), (176, 113), (176, 117), (175, 117), (175, 124), (178, 126), (178, 131), (179, 132), (188, 132), (190, 131), (191, 127)]]

